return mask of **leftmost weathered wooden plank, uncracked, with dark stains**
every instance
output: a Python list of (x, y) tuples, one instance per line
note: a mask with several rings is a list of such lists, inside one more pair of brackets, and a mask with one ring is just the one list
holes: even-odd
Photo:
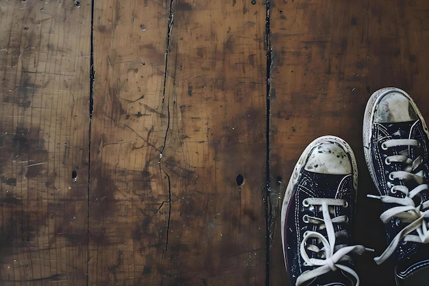
[(0, 3), (1, 285), (86, 285), (89, 53), (89, 5)]

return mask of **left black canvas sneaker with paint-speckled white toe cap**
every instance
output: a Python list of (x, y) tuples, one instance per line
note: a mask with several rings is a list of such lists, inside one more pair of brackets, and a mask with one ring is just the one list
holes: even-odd
[(356, 159), (335, 136), (312, 141), (300, 156), (282, 204), (282, 244), (290, 285), (358, 285), (351, 252)]

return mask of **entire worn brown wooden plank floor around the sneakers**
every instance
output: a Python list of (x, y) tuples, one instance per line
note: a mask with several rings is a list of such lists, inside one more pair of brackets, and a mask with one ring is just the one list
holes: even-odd
[[(304, 147), (360, 171), (361, 285), (393, 285), (362, 121), (429, 120), (429, 2), (0, 1), (0, 285), (288, 285), (280, 199)], [(370, 231), (368, 231), (370, 230)]]

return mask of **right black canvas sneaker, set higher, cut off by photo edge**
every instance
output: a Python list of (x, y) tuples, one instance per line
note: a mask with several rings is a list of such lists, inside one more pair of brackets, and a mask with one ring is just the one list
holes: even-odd
[(428, 128), (399, 88), (371, 95), (363, 121), (365, 160), (383, 202), (387, 249), (374, 260), (397, 261), (398, 285), (429, 285)]

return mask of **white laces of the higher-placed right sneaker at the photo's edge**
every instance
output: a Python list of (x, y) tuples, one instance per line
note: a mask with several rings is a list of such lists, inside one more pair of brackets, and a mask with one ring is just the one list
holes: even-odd
[[(397, 146), (415, 146), (420, 147), (419, 141), (415, 139), (391, 139), (385, 141), (382, 144), (382, 149), (387, 150), (390, 147)], [(380, 219), (384, 224), (388, 223), (393, 217), (400, 219), (400, 222), (408, 223), (399, 233), (392, 239), (387, 249), (380, 255), (380, 257), (374, 258), (377, 264), (382, 263), (387, 258), (395, 252), (398, 243), (400, 241), (413, 241), (417, 243), (429, 243), (429, 223), (426, 222), (425, 218), (429, 217), (429, 201), (422, 202), (421, 200), (421, 191), (429, 189), (428, 184), (424, 184), (424, 174), (422, 171), (419, 171), (417, 174), (412, 172), (419, 167), (423, 159), (421, 156), (411, 160), (409, 158), (408, 151), (402, 152), (399, 155), (388, 156), (385, 160), (385, 164), (389, 165), (391, 163), (404, 163), (406, 167), (402, 171), (392, 171), (389, 174), (389, 180), (393, 181), (395, 179), (402, 182), (413, 180), (417, 182), (418, 186), (413, 190), (409, 190), (408, 187), (404, 185), (393, 184), (388, 182), (388, 187), (391, 187), (391, 193), (396, 193), (400, 191), (404, 194), (404, 198), (395, 198), (389, 195), (367, 195), (369, 198), (377, 198), (382, 202), (387, 204), (398, 204), (398, 206), (393, 206), (387, 211), (384, 211), (380, 215)], [(416, 206), (413, 198), (418, 196), (420, 198), (419, 204)], [(417, 197), (417, 198), (418, 198)], [(425, 211), (426, 210), (426, 211)], [(417, 235), (411, 235), (413, 231), (417, 231)]]

